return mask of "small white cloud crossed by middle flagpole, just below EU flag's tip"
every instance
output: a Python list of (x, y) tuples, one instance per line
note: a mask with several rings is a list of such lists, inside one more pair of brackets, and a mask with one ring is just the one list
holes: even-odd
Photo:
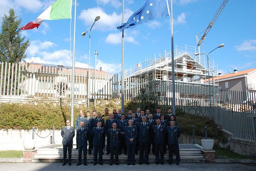
[[(133, 36), (127, 35), (127, 33), (124, 33), (124, 41), (131, 42), (135, 45), (138, 45), (139, 42), (135, 40), (134, 37), (138, 35), (138, 31), (132, 31), (131, 32)], [(111, 33), (106, 37), (105, 42), (108, 44), (118, 45), (122, 42), (122, 33)]]

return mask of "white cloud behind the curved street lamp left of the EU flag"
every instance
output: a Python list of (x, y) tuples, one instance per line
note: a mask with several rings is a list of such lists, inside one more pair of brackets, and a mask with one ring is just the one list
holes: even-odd
[[(126, 10), (124, 15), (125, 18), (128, 18), (132, 14), (133, 12), (131, 10)], [(84, 25), (90, 28), (94, 23), (95, 17), (98, 15), (100, 16), (100, 19), (93, 26), (94, 29), (101, 31), (116, 30), (116, 27), (120, 26), (122, 23), (122, 14), (117, 14), (116, 12), (106, 14), (103, 9), (99, 7), (82, 10), (78, 18), (83, 20)]]

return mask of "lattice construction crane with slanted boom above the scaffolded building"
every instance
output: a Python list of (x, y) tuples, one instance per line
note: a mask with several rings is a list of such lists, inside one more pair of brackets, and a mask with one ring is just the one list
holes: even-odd
[[(202, 31), (200, 34), (198, 34), (198, 35), (196, 36), (196, 38), (197, 38), (198, 53), (200, 53), (200, 45), (201, 45), (202, 41), (205, 39), (207, 33), (210, 31), (211, 27), (212, 27), (212, 26), (214, 25), (214, 23), (216, 22), (218, 16), (219, 16), (220, 13), (222, 12), (222, 10), (223, 10), (223, 8), (225, 7), (225, 5), (227, 4), (227, 2), (228, 2), (228, 0), (224, 0), (223, 3), (220, 5), (220, 7), (219, 7), (219, 9), (217, 10), (216, 14), (215, 14), (214, 17), (211, 19), (211, 21), (210, 21), (208, 27), (204, 30), (205, 32), (204, 32), (203, 36), (201, 37), (201, 39), (200, 39), (200, 40), (198, 39), (198, 35), (200, 35), (203, 31)], [(200, 57), (199, 57), (199, 63), (200, 63)]]

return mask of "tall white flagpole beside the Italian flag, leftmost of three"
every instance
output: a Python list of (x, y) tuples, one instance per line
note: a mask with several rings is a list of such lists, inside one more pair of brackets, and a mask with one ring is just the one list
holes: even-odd
[(76, 43), (76, 0), (75, 0), (75, 19), (74, 19), (74, 46), (73, 46), (73, 63), (72, 63), (72, 93), (71, 93), (71, 126), (74, 126), (74, 87), (75, 87), (75, 43)]

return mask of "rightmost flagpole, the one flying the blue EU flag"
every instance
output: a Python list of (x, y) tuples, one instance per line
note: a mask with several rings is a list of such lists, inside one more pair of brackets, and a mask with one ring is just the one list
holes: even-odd
[(172, 85), (173, 85), (173, 114), (175, 115), (175, 73), (174, 73), (174, 30), (173, 30), (173, 0), (170, 0), (170, 30), (172, 35)]

